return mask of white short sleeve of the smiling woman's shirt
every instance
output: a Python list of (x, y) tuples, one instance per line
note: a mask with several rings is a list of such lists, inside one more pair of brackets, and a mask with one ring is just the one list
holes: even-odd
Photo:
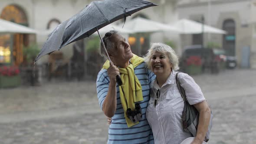
[(190, 75), (186, 73), (180, 73), (179, 80), (182, 88), (185, 90), (187, 101), (190, 105), (205, 101), (201, 88)]

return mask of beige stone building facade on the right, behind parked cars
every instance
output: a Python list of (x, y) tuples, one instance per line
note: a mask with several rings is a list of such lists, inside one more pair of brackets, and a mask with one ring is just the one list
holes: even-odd
[[(179, 19), (186, 18), (224, 29), (228, 33), (204, 34), (204, 46), (208, 42), (218, 43), (229, 55), (236, 56), (241, 66), (248, 56), (251, 68), (256, 68), (256, 22), (255, 0), (183, 0), (178, 4)], [(200, 43), (198, 35), (183, 35), (182, 47)]]

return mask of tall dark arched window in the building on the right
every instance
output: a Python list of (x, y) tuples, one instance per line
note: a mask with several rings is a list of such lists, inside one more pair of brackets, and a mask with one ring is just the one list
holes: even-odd
[(223, 30), (227, 31), (227, 35), (223, 35), (223, 49), (226, 50), (226, 55), (236, 55), (236, 24), (232, 19), (224, 20)]

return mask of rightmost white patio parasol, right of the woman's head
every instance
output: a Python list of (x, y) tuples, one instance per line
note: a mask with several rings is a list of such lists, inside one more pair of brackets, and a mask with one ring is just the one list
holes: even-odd
[[(181, 34), (198, 34), (202, 33), (202, 23), (195, 22), (193, 20), (182, 19), (177, 21), (171, 26), (179, 29)], [(203, 33), (219, 33), (226, 34), (226, 31), (222, 29), (217, 29), (212, 26), (203, 25)]]

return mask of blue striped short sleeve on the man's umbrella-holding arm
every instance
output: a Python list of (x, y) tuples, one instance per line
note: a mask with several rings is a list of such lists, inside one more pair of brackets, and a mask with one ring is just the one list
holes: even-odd
[(102, 109), (103, 102), (108, 94), (108, 85), (109, 85), (108, 73), (105, 69), (103, 69), (98, 73), (97, 81), (96, 81), (98, 103), (101, 109)]

